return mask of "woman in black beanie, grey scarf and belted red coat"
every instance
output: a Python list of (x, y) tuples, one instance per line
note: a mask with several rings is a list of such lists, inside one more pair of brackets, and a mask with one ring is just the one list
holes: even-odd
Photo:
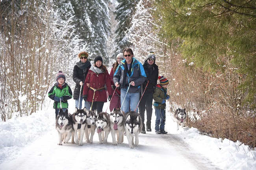
[(105, 65), (102, 64), (102, 57), (97, 56), (94, 59), (94, 64), (88, 71), (83, 87), (83, 100), (91, 104), (91, 110), (96, 110), (98, 113), (102, 112), (104, 102), (107, 102), (107, 93), (105, 84), (108, 89), (109, 98), (112, 97), (112, 88), (109, 80), (109, 73)]

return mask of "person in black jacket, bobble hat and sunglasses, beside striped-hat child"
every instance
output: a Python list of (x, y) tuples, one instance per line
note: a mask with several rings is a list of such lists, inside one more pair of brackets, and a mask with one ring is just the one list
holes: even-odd
[[(158, 80), (158, 66), (156, 65), (156, 56), (153, 51), (147, 56), (147, 59), (144, 61), (143, 68), (147, 75), (147, 80), (142, 84), (141, 95), (143, 94), (141, 101), (139, 102), (139, 114), (141, 115), (141, 119), (143, 122), (141, 133), (145, 134), (145, 110), (147, 111), (147, 132), (151, 132), (151, 117), (152, 117), (152, 101), (153, 101), (153, 93), (154, 88), (156, 88), (157, 80)], [(146, 89), (146, 90), (145, 90)]]

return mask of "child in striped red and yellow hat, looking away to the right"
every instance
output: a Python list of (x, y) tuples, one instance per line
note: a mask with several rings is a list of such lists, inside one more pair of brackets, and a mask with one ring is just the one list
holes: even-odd
[(165, 131), (165, 100), (170, 99), (170, 96), (167, 95), (167, 86), (169, 81), (163, 77), (159, 76), (160, 84), (156, 85), (154, 90), (153, 99), (154, 99), (154, 108), (156, 115), (156, 124), (155, 124), (155, 132), (156, 134), (166, 134)]

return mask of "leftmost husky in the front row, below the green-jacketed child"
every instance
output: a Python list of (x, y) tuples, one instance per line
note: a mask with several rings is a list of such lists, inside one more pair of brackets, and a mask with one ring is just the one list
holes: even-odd
[(72, 117), (68, 110), (63, 112), (62, 109), (59, 109), (59, 114), (56, 117), (56, 130), (58, 131), (59, 135), (59, 143), (58, 145), (62, 145), (62, 136), (66, 136), (64, 138), (64, 143), (68, 143), (72, 132), (74, 131), (72, 125)]

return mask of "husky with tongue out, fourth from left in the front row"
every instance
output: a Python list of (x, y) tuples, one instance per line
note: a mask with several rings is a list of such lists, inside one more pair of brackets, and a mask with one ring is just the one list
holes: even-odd
[[(108, 135), (110, 133), (109, 125), (110, 125), (109, 114), (106, 112), (100, 112), (96, 119), (96, 128), (97, 128), (100, 144), (108, 143), (107, 140), (108, 140)], [(104, 140), (102, 141), (102, 139)]]

